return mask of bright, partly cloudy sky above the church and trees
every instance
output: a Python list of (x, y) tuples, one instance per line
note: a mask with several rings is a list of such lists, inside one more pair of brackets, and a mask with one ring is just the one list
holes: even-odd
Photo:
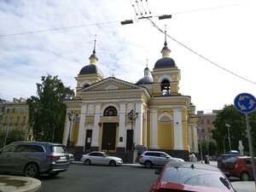
[(135, 84), (162, 57), (166, 26), (179, 92), (196, 110), (222, 109), (240, 93), (256, 96), (255, 8), (255, 0), (0, 0), (0, 98), (36, 96), (48, 74), (75, 90), (95, 37), (104, 78)]

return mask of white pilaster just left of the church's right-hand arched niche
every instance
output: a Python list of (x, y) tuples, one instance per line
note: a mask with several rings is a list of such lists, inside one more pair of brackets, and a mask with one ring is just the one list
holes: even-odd
[(157, 108), (150, 109), (150, 148), (158, 149)]

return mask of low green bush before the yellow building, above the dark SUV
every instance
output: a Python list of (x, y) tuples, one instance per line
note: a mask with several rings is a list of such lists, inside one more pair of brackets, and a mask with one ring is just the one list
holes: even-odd
[(0, 133), (0, 148), (3, 147), (5, 138), (6, 138), (5, 145), (8, 145), (9, 143), (24, 141), (24, 139), (25, 139), (24, 136), (25, 136), (25, 131), (21, 131), (19, 129), (14, 129), (14, 130), (9, 131), (7, 134), (7, 137), (6, 137), (6, 132), (1, 132)]

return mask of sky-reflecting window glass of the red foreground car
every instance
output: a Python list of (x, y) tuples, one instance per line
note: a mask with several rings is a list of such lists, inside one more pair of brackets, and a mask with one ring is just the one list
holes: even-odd
[(218, 189), (230, 189), (230, 184), (220, 172), (192, 169), (188, 167), (166, 167), (161, 178), (162, 182), (183, 183)]

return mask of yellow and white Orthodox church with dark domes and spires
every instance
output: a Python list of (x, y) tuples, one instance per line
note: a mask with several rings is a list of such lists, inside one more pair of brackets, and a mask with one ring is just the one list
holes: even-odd
[(179, 93), (180, 70), (170, 57), (166, 37), (160, 52), (153, 71), (146, 67), (136, 84), (104, 79), (95, 40), (90, 64), (75, 77), (76, 96), (65, 102), (63, 143), (80, 154), (100, 150), (122, 158), (137, 148), (165, 151), (184, 160), (197, 153), (198, 117), (191, 97)]

